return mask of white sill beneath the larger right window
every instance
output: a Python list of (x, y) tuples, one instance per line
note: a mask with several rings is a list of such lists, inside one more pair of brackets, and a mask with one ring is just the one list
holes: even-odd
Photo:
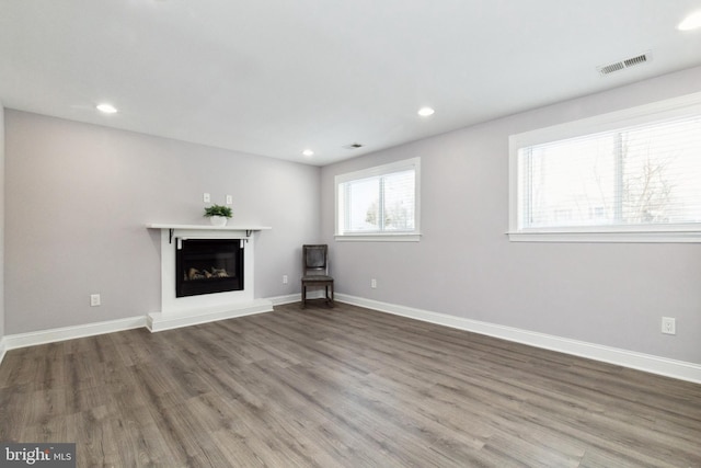
[(701, 230), (516, 231), (506, 232), (506, 235), (508, 236), (508, 240), (512, 242), (701, 242)]

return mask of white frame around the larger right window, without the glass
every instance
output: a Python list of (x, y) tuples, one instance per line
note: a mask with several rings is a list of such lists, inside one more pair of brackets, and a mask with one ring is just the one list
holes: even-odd
[(668, 118), (701, 115), (701, 92), (509, 136), (508, 238), (516, 242), (701, 242), (701, 222), (635, 226), (519, 226), (519, 149)]

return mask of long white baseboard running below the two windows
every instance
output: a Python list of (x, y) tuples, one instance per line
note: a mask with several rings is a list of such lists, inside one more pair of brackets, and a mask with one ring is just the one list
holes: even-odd
[(428, 310), (398, 306), (394, 304), (380, 303), (345, 294), (337, 294), (336, 300), (381, 312), (409, 317), (425, 322), (486, 334), (516, 343), (528, 344), (530, 346), (558, 351), (579, 357), (587, 357), (589, 359), (601, 361), (609, 364), (616, 364), (618, 366), (701, 384), (700, 364), (675, 361), (651, 354), (587, 343), (584, 341), (570, 340), (566, 338), (466, 319), (447, 313), (438, 313)]

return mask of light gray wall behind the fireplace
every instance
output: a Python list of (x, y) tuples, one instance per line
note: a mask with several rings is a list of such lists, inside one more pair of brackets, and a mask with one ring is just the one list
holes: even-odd
[(233, 195), (235, 222), (273, 228), (256, 235), (256, 297), (299, 292), (300, 246), (319, 240), (319, 168), (4, 115), (7, 334), (160, 311), (160, 233), (145, 225), (206, 222), (204, 192)]

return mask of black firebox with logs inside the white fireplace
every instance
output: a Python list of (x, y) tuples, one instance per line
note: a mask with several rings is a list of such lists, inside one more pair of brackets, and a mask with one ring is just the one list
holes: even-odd
[(243, 289), (241, 239), (177, 239), (175, 297)]

